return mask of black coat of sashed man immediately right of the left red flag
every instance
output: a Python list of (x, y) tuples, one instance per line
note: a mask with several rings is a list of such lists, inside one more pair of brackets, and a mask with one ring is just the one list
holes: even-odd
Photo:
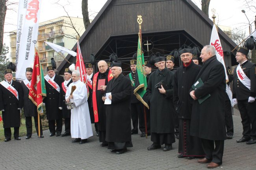
[[(54, 81), (61, 88), (61, 83), (64, 81), (64, 79), (60, 75), (55, 75)], [(59, 109), (59, 92), (55, 88), (53, 88), (46, 80), (45, 80), (45, 88), (46, 88), (46, 97), (44, 99), (44, 102), (45, 102), (47, 120), (52, 121), (52, 120), (61, 119), (62, 112)]]

